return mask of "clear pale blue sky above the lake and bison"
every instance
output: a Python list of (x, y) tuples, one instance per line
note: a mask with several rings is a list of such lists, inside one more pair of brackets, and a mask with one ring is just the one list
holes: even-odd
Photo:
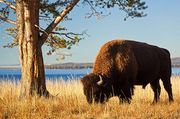
[[(148, 14), (144, 18), (129, 18), (124, 21), (123, 12), (112, 9), (111, 15), (97, 19), (85, 18), (87, 6), (75, 7), (70, 13), (72, 21), (62, 23), (74, 32), (87, 30), (87, 36), (71, 50), (59, 50), (59, 52), (71, 53), (71, 57), (65, 60), (56, 60), (58, 56), (47, 56), (47, 48), (44, 47), (44, 61), (49, 63), (63, 62), (94, 62), (100, 47), (113, 39), (129, 39), (157, 45), (168, 49), (171, 57), (180, 57), (180, 0), (147, 0)], [(2, 44), (10, 41), (5, 34), (7, 24), (0, 24), (0, 65), (19, 64), (18, 48), (2, 48)]]

